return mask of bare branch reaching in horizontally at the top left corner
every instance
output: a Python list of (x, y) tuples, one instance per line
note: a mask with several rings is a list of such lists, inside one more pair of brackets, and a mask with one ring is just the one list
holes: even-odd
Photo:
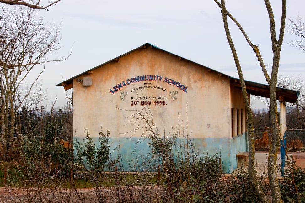
[(41, 4), (40, 3), (41, 0), (37, 0), (37, 1), (33, 1), (33, 0), (0, 0), (0, 3), (5, 3), (5, 4), (8, 4), (8, 5), (22, 5), (22, 6), (26, 6), (26, 7), (33, 8), (33, 9), (48, 10), (48, 8), (50, 6), (55, 5), (59, 1), (60, 0), (56, 0), (56, 1), (48, 2), (46, 4)]

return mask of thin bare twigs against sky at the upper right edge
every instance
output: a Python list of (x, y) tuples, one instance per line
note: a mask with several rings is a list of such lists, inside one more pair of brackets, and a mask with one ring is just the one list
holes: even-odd
[(289, 44), (305, 51), (305, 20), (298, 17), (296, 20), (288, 19), (290, 24), (287, 25), (287, 31), (290, 34), (296, 35), (298, 39), (289, 42)]

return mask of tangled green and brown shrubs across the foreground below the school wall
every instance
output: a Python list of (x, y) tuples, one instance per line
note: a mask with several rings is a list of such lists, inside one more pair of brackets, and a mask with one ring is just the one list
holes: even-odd
[[(134, 167), (123, 173), (119, 172), (123, 171), (120, 155), (114, 159), (110, 151), (110, 131), (100, 132), (97, 144), (84, 130), (86, 138), (72, 146), (67, 136), (71, 134), (68, 123), (72, 122), (69, 108), (38, 112), (27, 112), (25, 107), (18, 111), (22, 133), (16, 135), (15, 155), (3, 159), (0, 173), (6, 177), (5, 186), (23, 188), (32, 199), (29, 202), (85, 202), (88, 196), (82, 187), (93, 188), (90, 198), (94, 202), (260, 202), (246, 170), (222, 174), (221, 154), (198, 154), (184, 133), (173, 131), (164, 136), (145, 128), (152, 153), (137, 161), (154, 172)], [(279, 182), (283, 200), (303, 202), (304, 170), (291, 162), (283, 175)], [(268, 194), (265, 178), (257, 181)]]

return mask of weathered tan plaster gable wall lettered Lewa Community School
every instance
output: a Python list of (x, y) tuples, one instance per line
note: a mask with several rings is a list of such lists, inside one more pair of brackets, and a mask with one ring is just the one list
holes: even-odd
[[(143, 75), (158, 77), (131, 83)], [(80, 79), (83, 77), (91, 77), (93, 84), (85, 87), (78, 78), (73, 81), (73, 124), (79, 139), (85, 137), (83, 128), (97, 138), (102, 127), (104, 132), (110, 130), (113, 149), (120, 142), (124, 159), (145, 157), (149, 154), (147, 140), (138, 142), (143, 139), (145, 129), (140, 127), (144, 125), (134, 122), (135, 115), (143, 114), (145, 107), (162, 136), (180, 132), (181, 137), (195, 139), (200, 153), (213, 155), (221, 150), (222, 162), (226, 163), (224, 171), (230, 172), (231, 107), (227, 76), (147, 47), (94, 69)], [(168, 79), (179, 82), (182, 88), (169, 84)], [(141, 106), (141, 102), (150, 105)], [(155, 105), (159, 102), (162, 105)]]

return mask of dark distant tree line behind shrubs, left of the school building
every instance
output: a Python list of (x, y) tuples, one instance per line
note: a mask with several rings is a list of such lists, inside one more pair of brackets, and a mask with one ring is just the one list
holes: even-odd
[[(9, 119), (10, 117), (11, 115), (8, 115)], [(27, 109), (23, 105), (19, 110), (16, 110), (14, 124), (12, 148), (22, 147), (20, 143), (24, 143), (24, 140), (27, 139), (41, 140), (47, 144), (61, 142), (67, 146), (73, 146), (73, 112), (71, 107), (52, 107), (51, 111), (45, 111), (43, 109)], [(8, 151), (7, 154), (1, 151), (0, 155), (3, 159), (10, 159), (14, 157), (14, 152), (18, 156), (18, 150)]]

